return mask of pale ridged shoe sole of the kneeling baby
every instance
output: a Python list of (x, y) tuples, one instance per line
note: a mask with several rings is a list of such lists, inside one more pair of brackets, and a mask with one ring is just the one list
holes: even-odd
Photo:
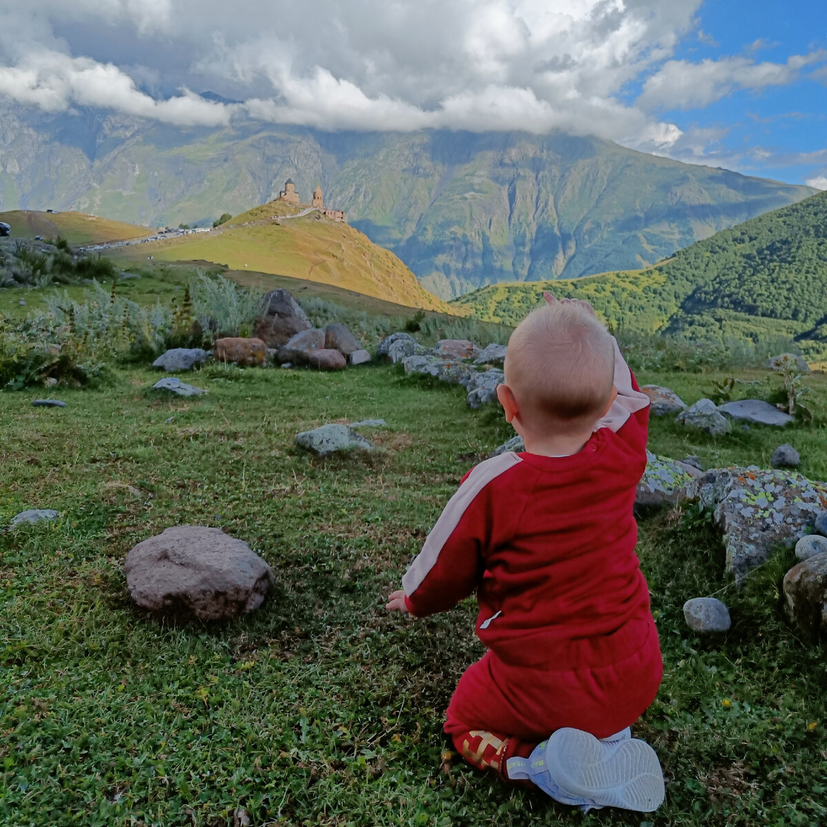
[(562, 791), (596, 804), (650, 813), (665, 797), (657, 755), (638, 739), (601, 743), (581, 729), (557, 729), (546, 765)]

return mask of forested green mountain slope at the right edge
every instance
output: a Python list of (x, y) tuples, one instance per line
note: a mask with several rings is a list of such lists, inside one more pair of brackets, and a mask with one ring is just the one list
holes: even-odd
[(716, 233), (645, 270), (579, 280), (496, 284), (452, 302), (517, 323), (543, 290), (586, 299), (614, 327), (697, 341), (791, 337), (827, 354), (827, 192)]

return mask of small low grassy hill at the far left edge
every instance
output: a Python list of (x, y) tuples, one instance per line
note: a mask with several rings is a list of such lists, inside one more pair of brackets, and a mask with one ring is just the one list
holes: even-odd
[(148, 236), (149, 227), (137, 227), (98, 218), (86, 213), (44, 213), (37, 210), (11, 210), (0, 213), (0, 221), (12, 227), (12, 237), (33, 239), (41, 236), (55, 239), (62, 236), (69, 244), (101, 244)]

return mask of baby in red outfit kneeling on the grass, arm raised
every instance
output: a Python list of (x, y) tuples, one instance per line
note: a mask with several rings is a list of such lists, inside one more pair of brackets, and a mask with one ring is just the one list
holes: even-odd
[(476, 590), (488, 652), (445, 724), (467, 762), (566, 804), (655, 810), (661, 768), (629, 730), (663, 671), (634, 551), (649, 400), (590, 304), (546, 299), (498, 388), (525, 451), (463, 478), (386, 608), (422, 617)]

